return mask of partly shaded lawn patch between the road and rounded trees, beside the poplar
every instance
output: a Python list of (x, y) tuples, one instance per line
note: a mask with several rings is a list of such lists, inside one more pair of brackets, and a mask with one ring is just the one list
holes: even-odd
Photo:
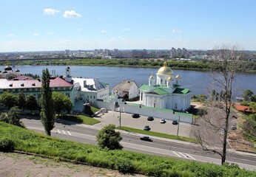
[(84, 116), (84, 115), (67, 114), (67, 115), (62, 115), (59, 118), (64, 119), (64, 120), (68, 120), (68, 121), (71, 121), (71, 122), (83, 123), (83, 124), (86, 124), (86, 125), (95, 125), (95, 124), (101, 122), (98, 119), (94, 119), (92, 117), (87, 117), (87, 116)]

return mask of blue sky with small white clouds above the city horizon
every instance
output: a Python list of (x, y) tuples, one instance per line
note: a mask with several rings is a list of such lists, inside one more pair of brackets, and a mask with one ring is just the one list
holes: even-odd
[(255, 0), (1, 0), (0, 52), (256, 50)]

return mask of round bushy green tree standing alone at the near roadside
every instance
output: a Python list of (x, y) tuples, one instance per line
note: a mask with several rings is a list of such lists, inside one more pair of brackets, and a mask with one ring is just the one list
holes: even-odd
[(102, 128), (101, 131), (98, 132), (96, 139), (98, 146), (103, 149), (115, 150), (123, 148), (119, 143), (123, 138), (120, 136), (119, 131), (115, 131), (115, 125), (113, 124)]

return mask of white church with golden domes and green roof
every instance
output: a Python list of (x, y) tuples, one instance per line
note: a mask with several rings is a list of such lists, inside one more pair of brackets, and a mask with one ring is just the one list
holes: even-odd
[(140, 103), (147, 107), (186, 111), (190, 108), (191, 91), (181, 85), (181, 76), (164, 66), (158, 69), (156, 77), (149, 76), (149, 84), (140, 88)]

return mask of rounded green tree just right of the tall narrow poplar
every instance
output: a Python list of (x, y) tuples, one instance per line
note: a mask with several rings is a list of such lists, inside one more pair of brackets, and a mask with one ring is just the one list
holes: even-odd
[(70, 112), (73, 107), (73, 104), (70, 98), (67, 97), (65, 94), (61, 94), (59, 92), (54, 91), (53, 106), (54, 106), (55, 112), (58, 113), (58, 116), (59, 116), (61, 114), (61, 111)]

